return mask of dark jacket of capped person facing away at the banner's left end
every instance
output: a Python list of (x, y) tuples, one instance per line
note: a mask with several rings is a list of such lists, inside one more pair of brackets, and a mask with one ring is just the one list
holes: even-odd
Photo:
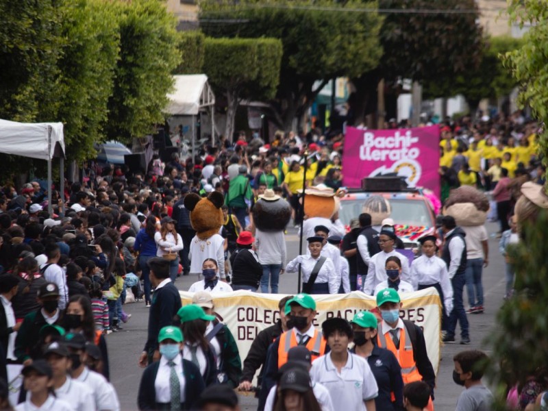
[(149, 311), (149, 334), (144, 351), (151, 353), (158, 349), (158, 334), (160, 329), (173, 325), (173, 317), (181, 308), (179, 290), (172, 282), (154, 291)]

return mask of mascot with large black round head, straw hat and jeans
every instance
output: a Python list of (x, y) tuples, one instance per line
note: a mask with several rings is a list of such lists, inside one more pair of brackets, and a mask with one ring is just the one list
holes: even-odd
[(253, 205), (255, 247), (262, 266), (261, 292), (277, 294), (279, 274), (286, 266), (286, 239), (284, 230), (291, 218), (290, 204), (276, 195), (271, 188), (259, 195)]

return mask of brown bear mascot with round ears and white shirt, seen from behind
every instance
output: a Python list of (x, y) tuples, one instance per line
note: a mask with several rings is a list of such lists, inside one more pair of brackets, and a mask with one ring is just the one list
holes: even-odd
[(190, 274), (200, 275), (206, 258), (216, 260), (219, 278), (225, 279), (225, 239), (219, 234), (223, 225), (221, 207), (225, 199), (220, 192), (210, 192), (208, 197), (201, 198), (192, 192), (184, 198), (184, 206), (190, 211), (190, 224), (196, 235), (190, 242)]

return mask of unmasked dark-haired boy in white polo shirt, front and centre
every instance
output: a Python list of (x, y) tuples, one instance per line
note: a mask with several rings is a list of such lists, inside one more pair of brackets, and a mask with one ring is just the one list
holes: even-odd
[(367, 361), (348, 351), (353, 338), (350, 324), (345, 319), (332, 318), (323, 322), (322, 331), (330, 351), (312, 363), (312, 381), (329, 390), (339, 410), (374, 411), (377, 382)]

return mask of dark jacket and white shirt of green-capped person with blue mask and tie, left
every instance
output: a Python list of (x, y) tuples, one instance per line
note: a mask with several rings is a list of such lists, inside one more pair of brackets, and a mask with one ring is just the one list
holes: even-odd
[[(181, 410), (190, 410), (199, 399), (205, 384), (195, 364), (184, 360), (180, 354), (173, 359), (173, 362), (179, 378)], [(160, 361), (147, 366), (142, 373), (139, 386), (137, 399), (139, 410), (171, 409), (170, 377), (171, 366), (163, 356)]]

